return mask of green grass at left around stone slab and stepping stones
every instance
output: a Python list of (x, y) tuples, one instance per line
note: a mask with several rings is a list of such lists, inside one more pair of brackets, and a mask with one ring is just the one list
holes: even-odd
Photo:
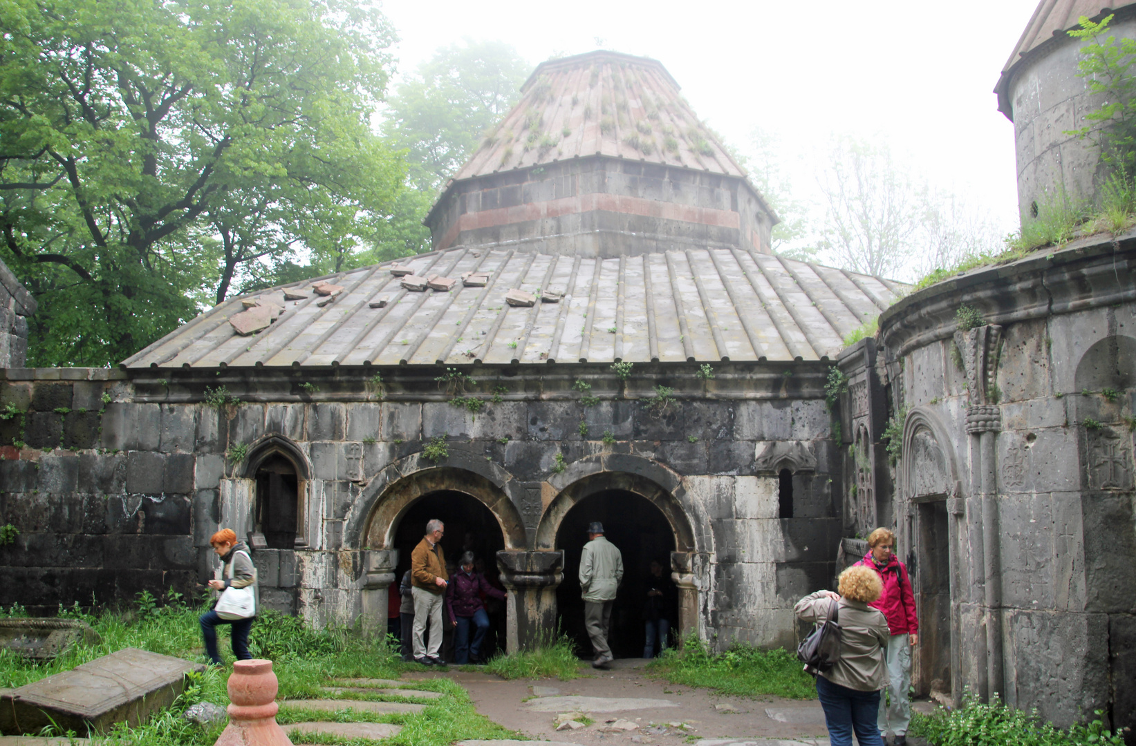
[[(181, 603), (178, 598), (159, 607), (152, 596), (147, 596), (141, 600), (136, 609), (107, 610), (94, 614), (78, 610), (65, 611), (64, 615), (78, 618), (91, 625), (102, 637), (102, 643), (73, 647), (55, 661), (41, 664), (0, 651), (0, 687), (23, 686), (124, 647), (141, 647), (154, 653), (202, 662), (204, 657), (198, 617), (203, 610), (204, 607)], [(0, 613), (3, 613), (2, 610)], [(19, 609), (8, 613), (23, 615)], [(231, 661), (229, 642), (225, 630), (225, 627), (218, 628), (218, 644), (226, 660)], [(315, 630), (299, 619), (266, 612), (252, 626), (249, 647), (253, 656), (273, 660), (273, 670), (279, 681), (279, 698), (382, 698), (391, 702), (419, 702), (426, 705), (423, 712), (416, 714), (281, 711), (277, 722), (285, 731), (287, 724), (304, 720), (337, 720), (401, 724), (402, 732), (383, 741), (399, 746), (448, 746), (456, 740), (467, 738), (518, 737), (513, 731), (506, 730), (477, 714), (466, 690), (448, 679), (415, 681), (415, 688), (442, 693), (444, 696), (440, 699), (387, 697), (354, 691), (333, 695), (324, 691), (320, 687), (333, 686), (336, 679), (398, 679), (403, 670), (419, 669), (418, 665), (399, 661), (398, 653), (381, 638), (366, 637), (358, 630), (343, 628)], [(202, 701), (227, 705), (226, 682), (231, 671), (229, 668), (207, 669), (200, 677), (194, 677), (192, 686), (172, 707), (137, 728), (117, 727), (105, 739), (99, 740), (100, 745), (211, 746), (224, 724), (206, 731), (183, 720), (182, 712), (191, 704)], [(306, 740), (345, 746), (365, 746), (374, 743), (365, 739), (345, 741), (318, 736), (306, 736)]]

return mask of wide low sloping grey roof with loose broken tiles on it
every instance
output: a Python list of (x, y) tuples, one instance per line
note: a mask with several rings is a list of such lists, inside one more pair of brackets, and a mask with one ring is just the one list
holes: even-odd
[[(408, 277), (392, 271), (404, 268), (387, 262), (237, 296), (123, 366), (835, 359), (843, 337), (904, 290), (891, 280), (737, 249), (588, 259), (459, 246), (401, 261), (415, 277), (488, 277), (484, 286), (470, 278), (470, 286), (459, 279), (449, 291), (416, 292), (403, 287)], [(314, 292), (320, 280), (320, 292), (333, 294)], [(562, 297), (513, 307), (506, 301), (510, 290)], [(285, 291), (306, 297), (286, 300)], [(265, 328), (241, 336), (240, 324), (229, 319), (258, 301), (262, 305), (242, 320), (259, 320)], [(244, 330), (250, 326), (258, 324)]]

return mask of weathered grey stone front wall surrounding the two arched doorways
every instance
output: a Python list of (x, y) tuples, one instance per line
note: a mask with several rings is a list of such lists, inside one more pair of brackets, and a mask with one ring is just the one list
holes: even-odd
[[(551, 483), (603, 459), (613, 473), (675, 475), (703, 558), (703, 634), (717, 632), (722, 646), (792, 644), (792, 604), (829, 585), (840, 537), (826, 366), (722, 363), (710, 380), (695, 366), (636, 366), (626, 382), (596, 366), (470, 367), (466, 395), (485, 400), (476, 414), (435, 380), (442, 368), (383, 370), (381, 388), (373, 371), (342, 369), (144, 371), (132, 380), (120, 371), (8, 370), (0, 405), (18, 414), (0, 422), (0, 523), (18, 535), (0, 547), (14, 580), (0, 588), (0, 605), (47, 613), (141, 589), (192, 593), (215, 561), (209, 536), (232, 526), (244, 538), (251, 528), (254, 483), (234, 452), (251, 455), (276, 436), (301, 454), (307, 544), (254, 552), (267, 605), (317, 623), (361, 613), (359, 517), (382, 498), (371, 494), (379, 472), (487, 475), (513, 502), (532, 547)], [(577, 379), (592, 383), (598, 403), (580, 402)], [(661, 416), (648, 406), (655, 385), (675, 389)], [(240, 403), (204, 402), (218, 386)], [(615, 443), (603, 442), (608, 433)], [(432, 463), (421, 451), (436, 437), (449, 455)], [(777, 470), (786, 467), (796, 472), (791, 519), (778, 518)], [(526, 496), (542, 494), (533, 510)]]

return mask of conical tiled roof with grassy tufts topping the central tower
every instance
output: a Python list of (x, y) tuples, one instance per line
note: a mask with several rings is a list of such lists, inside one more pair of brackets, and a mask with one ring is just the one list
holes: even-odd
[(657, 60), (609, 51), (549, 60), (521, 92), (454, 181), (585, 156), (745, 176)]

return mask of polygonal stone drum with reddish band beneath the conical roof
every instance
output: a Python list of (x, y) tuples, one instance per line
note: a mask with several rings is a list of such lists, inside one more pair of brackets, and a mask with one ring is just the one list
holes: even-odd
[(768, 251), (772, 228), (742, 179), (600, 157), (454, 184), (428, 223), (435, 249), (492, 245), (580, 257), (707, 246)]

